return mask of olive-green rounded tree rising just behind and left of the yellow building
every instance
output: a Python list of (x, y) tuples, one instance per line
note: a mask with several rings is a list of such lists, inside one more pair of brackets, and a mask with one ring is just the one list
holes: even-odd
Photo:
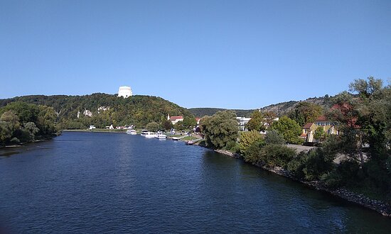
[(304, 126), (306, 123), (313, 123), (322, 113), (323, 109), (318, 104), (303, 101), (289, 111), (288, 117), (299, 123), (299, 126)]

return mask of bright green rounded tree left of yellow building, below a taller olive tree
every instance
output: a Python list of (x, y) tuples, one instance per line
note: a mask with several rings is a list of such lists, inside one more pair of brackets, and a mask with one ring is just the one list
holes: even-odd
[(299, 138), (301, 127), (291, 118), (282, 116), (282, 118), (279, 118), (279, 121), (275, 121), (272, 124), (272, 129), (282, 133), (284, 139), (288, 143), (298, 144), (301, 142), (301, 139)]

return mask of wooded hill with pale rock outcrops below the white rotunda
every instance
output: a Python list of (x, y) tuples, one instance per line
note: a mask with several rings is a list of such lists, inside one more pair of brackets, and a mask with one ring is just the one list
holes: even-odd
[(156, 96), (131, 96), (127, 99), (112, 94), (85, 96), (18, 96), (0, 99), (0, 108), (14, 101), (51, 106), (58, 116), (58, 129), (97, 128), (134, 125), (144, 128), (151, 122), (161, 123), (170, 116), (193, 116), (186, 108)]

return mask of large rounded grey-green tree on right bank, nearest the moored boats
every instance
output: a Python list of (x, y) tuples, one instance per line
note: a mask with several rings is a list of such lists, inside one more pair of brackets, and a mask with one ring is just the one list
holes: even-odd
[(213, 116), (205, 116), (200, 121), (200, 128), (206, 145), (216, 148), (235, 143), (239, 131), (234, 111), (218, 111)]

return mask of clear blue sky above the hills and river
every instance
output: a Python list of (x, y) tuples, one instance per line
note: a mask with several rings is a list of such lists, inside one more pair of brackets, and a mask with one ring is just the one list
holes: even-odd
[(391, 1), (0, 0), (0, 98), (259, 108), (391, 77)]

